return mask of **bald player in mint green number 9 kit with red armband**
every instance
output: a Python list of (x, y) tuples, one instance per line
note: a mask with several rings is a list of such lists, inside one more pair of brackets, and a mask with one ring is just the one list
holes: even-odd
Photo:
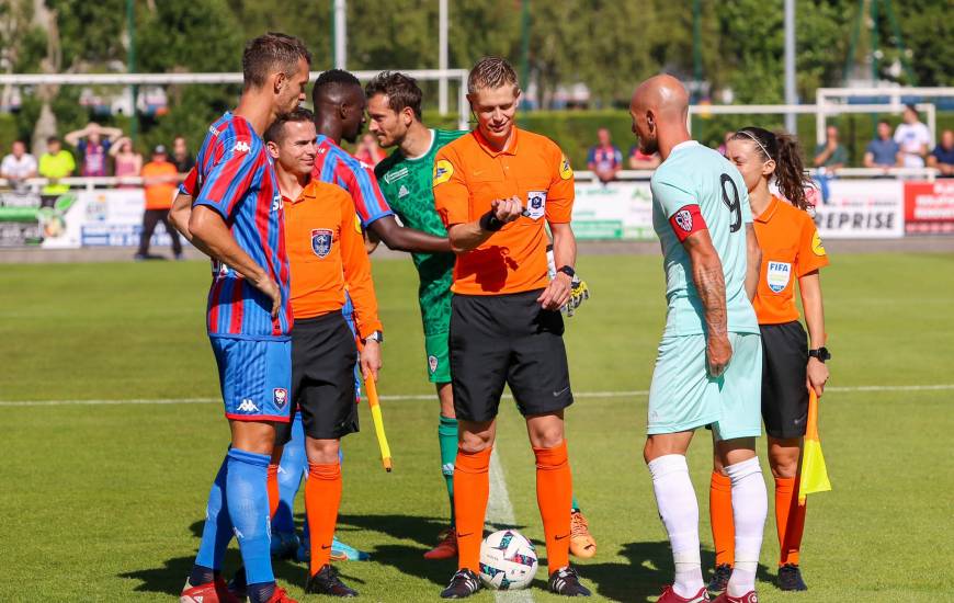
[(716, 453), (731, 480), (736, 525), (736, 566), (716, 602), (754, 603), (769, 503), (756, 456), (762, 343), (750, 300), (761, 253), (747, 187), (735, 166), (690, 138), (689, 96), (675, 78), (643, 82), (629, 113), (640, 150), (662, 157), (650, 186), (668, 309), (649, 387), (643, 453), (675, 566), (675, 580), (659, 601), (708, 601), (700, 565), (699, 503), (685, 453), (694, 430), (712, 425)]

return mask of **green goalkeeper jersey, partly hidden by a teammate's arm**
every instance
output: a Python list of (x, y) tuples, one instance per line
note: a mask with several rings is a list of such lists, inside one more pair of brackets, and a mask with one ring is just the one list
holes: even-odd
[[(405, 157), (400, 149), (377, 164), (374, 173), (381, 192), (409, 228), (438, 237), (447, 229), (434, 208), (434, 156), (447, 143), (467, 134), (466, 130), (432, 129), (431, 148), (420, 157)], [(451, 325), (451, 284), (454, 280), (453, 253), (412, 253), (421, 278), (418, 299), (424, 335), (446, 333)]]

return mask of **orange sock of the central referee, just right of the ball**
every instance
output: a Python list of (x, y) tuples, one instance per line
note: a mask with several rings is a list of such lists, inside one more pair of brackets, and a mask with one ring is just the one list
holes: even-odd
[(570, 507), (573, 480), (567, 459), (567, 441), (553, 448), (533, 448), (536, 455), (536, 503), (546, 536), (549, 573), (570, 565)]

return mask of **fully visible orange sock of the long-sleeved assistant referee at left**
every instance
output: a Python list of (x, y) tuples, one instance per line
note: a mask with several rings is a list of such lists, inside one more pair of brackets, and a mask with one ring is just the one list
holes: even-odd
[(341, 465), (308, 463), (305, 510), (311, 539), (311, 574), (331, 560), (331, 539), (341, 504)]

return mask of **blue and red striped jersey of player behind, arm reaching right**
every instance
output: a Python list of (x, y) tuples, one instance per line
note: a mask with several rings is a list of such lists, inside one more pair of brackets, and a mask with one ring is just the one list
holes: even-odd
[(361, 226), (367, 228), (374, 220), (394, 215), (381, 193), (373, 167), (362, 163), (323, 134), (319, 134), (315, 143), (318, 145), (318, 152), (315, 156), (311, 178), (338, 184), (348, 191), (354, 201), (354, 211), (357, 212)]

